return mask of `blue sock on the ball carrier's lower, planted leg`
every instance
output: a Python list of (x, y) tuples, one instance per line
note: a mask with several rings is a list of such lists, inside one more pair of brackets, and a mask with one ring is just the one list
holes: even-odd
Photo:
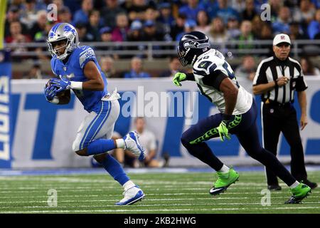
[[(109, 172), (114, 180), (117, 180), (117, 182), (119, 182), (120, 185), (124, 186), (124, 184), (127, 184), (127, 182), (130, 181), (122, 166), (111, 155), (107, 154), (105, 156), (105, 160), (102, 162), (102, 166), (105, 168), (105, 170), (107, 170), (107, 172)], [(128, 185), (129, 184), (127, 184), (127, 186)]]

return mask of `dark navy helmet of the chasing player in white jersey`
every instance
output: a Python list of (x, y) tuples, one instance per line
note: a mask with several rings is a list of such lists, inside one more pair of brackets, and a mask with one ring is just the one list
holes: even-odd
[(210, 50), (210, 41), (205, 33), (191, 31), (182, 36), (177, 51), (182, 66), (193, 65), (198, 56)]

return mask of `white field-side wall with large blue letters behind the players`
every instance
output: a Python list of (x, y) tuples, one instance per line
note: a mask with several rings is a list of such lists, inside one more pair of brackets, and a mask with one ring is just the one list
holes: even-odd
[[(251, 91), (250, 81), (241, 78), (239, 81)], [(320, 77), (309, 77), (306, 82), (309, 86), (309, 124), (301, 132), (302, 142), (306, 162), (320, 163)], [(43, 80), (12, 81), (10, 117), (13, 144), (10, 166), (90, 167), (90, 157), (80, 157), (72, 151), (72, 142), (87, 113), (74, 95), (68, 105), (48, 103), (43, 96), (45, 83)], [(190, 124), (217, 112), (207, 98), (199, 95), (194, 83), (183, 83), (180, 88), (174, 86), (169, 78), (110, 79), (108, 83), (110, 92), (117, 87), (122, 95), (119, 100), (122, 112), (115, 126), (120, 135), (132, 129), (134, 116), (144, 115), (147, 127), (158, 139), (158, 155), (161, 156), (163, 152), (171, 155), (170, 166), (203, 166), (202, 162), (188, 155), (180, 143), (181, 133)], [(256, 100), (260, 107), (260, 98), (256, 97)], [(299, 116), (297, 99), (294, 105)], [(260, 118), (257, 122), (261, 126)], [(208, 141), (208, 144), (228, 165), (258, 164), (246, 155), (235, 136), (227, 142), (220, 142), (217, 138)], [(289, 162), (289, 146), (282, 136), (278, 151), (280, 160)]]

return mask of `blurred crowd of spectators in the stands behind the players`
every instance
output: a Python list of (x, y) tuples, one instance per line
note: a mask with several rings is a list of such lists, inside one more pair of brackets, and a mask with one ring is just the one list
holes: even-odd
[[(47, 19), (49, 4), (57, 6), (56, 21)], [(270, 5), (270, 20), (261, 19), (262, 4)], [(266, 54), (272, 55), (271, 45), (245, 41), (272, 40), (277, 33), (289, 34), (292, 41), (319, 39), (320, 0), (9, 0), (5, 42), (44, 42), (50, 28), (58, 22), (73, 24), (80, 41), (91, 43), (178, 41), (183, 33), (202, 31), (210, 38), (213, 47), (217, 42), (237, 41), (233, 48), (269, 48)], [(123, 47), (96, 47), (100, 51), (113, 51), (115, 48)], [(143, 48), (145, 46), (132, 46), (134, 50)], [(21, 53), (23, 50), (26, 47), (17, 46), (13, 51)], [(37, 59), (48, 59), (48, 56), (40, 54), (46, 48), (29, 48), (28, 51), (38, 52)], [(145, 56), (124, 57), (133, 57), (134, 68)], [(108, 61), (118, 58), (122, 57), (111, 54)], [(243, 58), (243, 61), (250, 63), (252, 59)], [(118, 77), (146, 78), (149, 75), (131, 71)]]

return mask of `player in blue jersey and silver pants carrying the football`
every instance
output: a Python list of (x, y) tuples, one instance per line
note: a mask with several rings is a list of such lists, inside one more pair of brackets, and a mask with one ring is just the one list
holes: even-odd
[(114, 123), (119, 116), (119, 93), (107, 92), (107, 79), (89, 46), (79, 46), (78, 33), (67, 23), (55, 24), (48, 34), (51, 68), (55, 76), (45, 87), (50, 103), (65, 104), (73, 90), (89, 113), (82, 121), (73, 142), (73, 150), (80, 156), (93, 155), (107, 172), (124, 187), (124, 198), (117, 205), (133, 204), (144, 198), (144, 192), (127, 177), (122, 166), (107, 152), (115, 148), (131, 150), (144, 160), (144, 148), (136, 132), (112, 140)]

